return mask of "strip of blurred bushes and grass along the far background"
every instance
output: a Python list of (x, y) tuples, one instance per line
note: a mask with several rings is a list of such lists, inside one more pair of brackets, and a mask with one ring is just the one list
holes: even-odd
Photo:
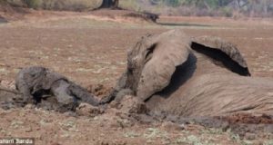
[[(272, 16), (272, 0), (0, 0), (35, 9), (86, 11), (108, 2), (127, 9), (167, 15)], [(113, 1), (113, 2), (112, 2)], [(114, 7), (115, 7), (114, 6)]]

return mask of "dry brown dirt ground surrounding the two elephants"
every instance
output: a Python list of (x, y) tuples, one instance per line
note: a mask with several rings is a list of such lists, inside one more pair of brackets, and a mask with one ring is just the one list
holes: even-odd
[[(174, 28), (189, 36), (227, 39), (238, 45), (253, 76), (273, 77), (272, 19), (162, 16), (158, 24), (149, 24), (105, 13), (0, 13), (6, 17), (5, 21), (0, 17), (1, 85), (14, 87), (20, 68), (43, 65), (85, 87), (103, 84), (110, 88), (126, 68), (127, 49), (144, 34)], [(95, 117), (29, 107), (0, 109), (0, 137), (31, 137), (36, 144), (50, 145), (273, 144), (273, 135), (268, 132), (240, 138), (230, 130), (191, 122), (137, 121), (137, 117), (132, 121), (128, 116), (115, 109)]]

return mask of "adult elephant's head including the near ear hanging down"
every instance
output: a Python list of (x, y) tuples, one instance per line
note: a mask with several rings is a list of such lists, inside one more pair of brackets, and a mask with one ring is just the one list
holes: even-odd
[(189, 44), (180, 31), (142, 37), (128, 53), (126, 88), (142, 101), (164, 89), (176, 67), (187, 61)]

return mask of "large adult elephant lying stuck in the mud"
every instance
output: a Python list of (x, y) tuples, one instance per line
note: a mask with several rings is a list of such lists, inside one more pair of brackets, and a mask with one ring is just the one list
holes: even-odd
[(141, 38), (129, 51), (115, 95), (129, 90), (152, 112), (222, 116), (273, 114), (273, 79), (250, 77), (232, 43), (180, 30)]

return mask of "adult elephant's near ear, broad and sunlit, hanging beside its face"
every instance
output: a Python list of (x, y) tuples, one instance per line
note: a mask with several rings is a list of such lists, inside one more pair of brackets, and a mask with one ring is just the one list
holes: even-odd
[(167, 87), (176, 67), (187, 61), (190, 40), (180, 30), (171, 30), (150, 38), (149, 52), (140, 74), (136, 95), (142, 101)]

